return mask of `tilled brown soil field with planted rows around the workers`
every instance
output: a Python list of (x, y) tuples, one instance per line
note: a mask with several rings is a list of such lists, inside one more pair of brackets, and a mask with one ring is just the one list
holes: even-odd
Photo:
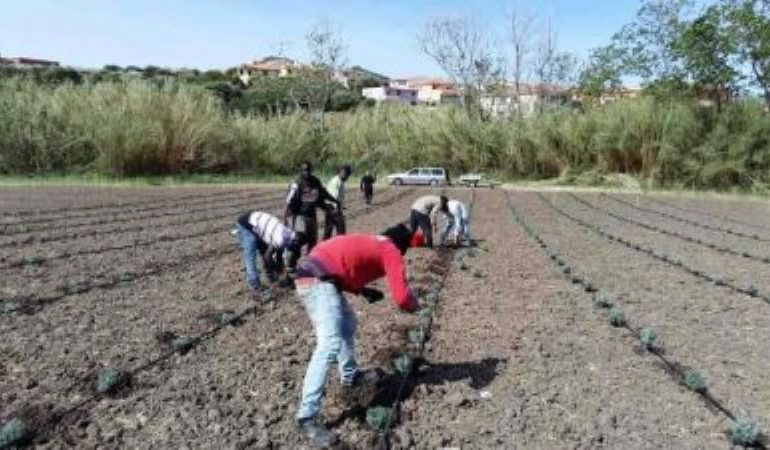
[[(21, 421), (46, 449), (306, 448), (312, 327), (293, 291), (250, 300), (229, 233), (283, 192), (0, 189), (0, 447)], [(427, 192), (368, 209), (351, 192), (349, 231)], [(723, 449), (768, 430), (765, 203), (446, 192), (477, 246), (410, 250), (419, 315), (350, 296), (359, 363), (386, 377), (351, 397), (330, 376), (339, 448)]]

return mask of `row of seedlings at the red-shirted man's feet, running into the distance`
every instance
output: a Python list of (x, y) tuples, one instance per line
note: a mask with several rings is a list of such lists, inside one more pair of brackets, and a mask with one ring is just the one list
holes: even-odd
[[(476, 196), (475, 191), (471, 193), (469, 209), (472, 213), (473, 204)], [(455, 253), (455, 257), (452, 254)], [(415, 368), (415, 361), (423, 358), (425, 344), (430, 337), (431, 327), (436, 316), (439, 304), (442, 299), (442, 292), (446, 284), (446, 278), (452, 261), (464, 264), (462, 259), (466, 255), (475, 257), (472, 248), (462, 248), (454, 251), (450, 248), (439, 249), (433, 260), (428, 265), (429, 275), (427, 292), (421, 296), (420, 305), (422, 309), (418, 314), (418, 325), (407, 332), (407, 350), (397, 354), (392, 362), (392, 369), (399, 377), (398, 387), (395, 392), (393, 403), (390, 406), (372, 406), (366, 411), (366, 422), (378, 434), (377, 449), (384, 450), (390, 448), (390, 430), (399, 415), (399, 408), (403, 393), (410, 381)]]

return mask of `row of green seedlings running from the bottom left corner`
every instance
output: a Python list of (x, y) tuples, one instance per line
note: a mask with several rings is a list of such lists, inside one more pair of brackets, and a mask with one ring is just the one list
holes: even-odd
[[(397, 199), (408, 195), (410, 191), (403, 191), (393, 197), (380, 202), (378, 206), (390, 204)], [(352, 217), (365, 214), (365, 209), (351, 214)], [(29, 417), (24, 411), (11, 415), (4, 423), (0, 424), (0, 450), (22, 445), (29, 445), (38, 437), (44, 437), (53, 433), (57, 427), (63, 426), (64, 419), (79, 411), (87, 405), (103, 398), (112, 398), (123, 395), (132, 387), (132, 380), (142, 372), (145, 372), (167, 361), (175, 355), (186, 355), (202, 343), (215, 338), (222, 330), (228, 327), (237, 327), (245, 323), (249, 316), (261, 317), (266, 311), (271, 310), (275, 302), (280, 298), (279, 289), (265, 289), (260, 296), (260, 302), (244, 308), (240, 312), (222, 311), (211, 314), (212, 327), (197, 335), (178, 335), (176, 333), (160, 333), (156, 339), (166, 350), (159, 356), (132, 369), (123, 370), (108, 367), (94, 374), (90, 380), (91, 393), (81, 401), (66, 408), (47, 411), (45, 417)], [(2, 304), (0, 304), (2, 311)], [(79, 384), (79, 383), (78, 383)]]

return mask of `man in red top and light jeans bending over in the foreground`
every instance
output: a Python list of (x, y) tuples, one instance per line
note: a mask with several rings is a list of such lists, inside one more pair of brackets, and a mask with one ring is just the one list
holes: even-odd
[(388, 228), (382, 236), (337, 236), (318, 244), (297, 266), (297, 294), (316, 336), (297, 421), (313, 446), (328, 447), (337, 441), (336, 434), (317, 420), (329, 363), (337, 362), (343, 387), (365, 377), (355, 357), (356, 316), (343, 291), (380, 300), (382, 292), (366, 285), (384, 276), (394, 303), (404, 311), (417, 311), (420, 305), (407, 283), (403, 259), (411, 237), (411, 229), (404, 224)]

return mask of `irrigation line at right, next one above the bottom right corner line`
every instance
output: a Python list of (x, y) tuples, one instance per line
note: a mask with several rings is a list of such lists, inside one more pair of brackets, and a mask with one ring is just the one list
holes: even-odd
[(610, 233), (608, 231), (604, 231), (602, 228), (600, 228), (600, 227), (598, 227), (598, 226), (596, 226), (594, 224), (588, 223), (588, 222), (586, 222), (586, 221), (584, 221), (584, 220), (582, 220), (582, 219), (580, 219), (578, 217), (575, 217), (572, 214), (570, 214), (570, 213), (564, 211), (563, 209), (557, 207), (556, 205), (554, 205), (542, 193), (538, 192), (537, 196), (538, 196), (538, 198), (540, 198), (540, 200), (543, 201), (543, 203), (548, 205), (557, 214), (559, 214), (561, 216), (564, 216), (564, 217), (566, 217), (567, 219), (569, 219), (569, 220), (571, 220), (573, 222), (578, 223), (582, 227), (584, 227), (584, 228), (586, 228), (586, 229), (588, 229), (588, 230), (590, 230), (590, 231), (592, 231), (592, 232), (594, 232), (594, 233), (596, 233), (596, 234), (598, 234), (598, 235), (600, 235), (600, 236), (602, 236), (602, 237), (604, 237), (604, 238), (606, 238), (606, 239), (608, 239), (610, 241), (615, 241), (615, 242), (618, 242), (619, 244), (623, 244), (626, 247), (630, 248), (631, 250), (637, 251), (639, 253), (643, 253), (643, 254), (645, 254), (647, 256), (652, 257), (653, 259), (657, 259), (658, 261), (662, 261), (662, 262), (664, 262), (664, 263), (666, 263), (668, 265), (677, 267), (677, 268), (679, 268), (681, 270), (684, 270), (685, 272), (687, 272), (687, 273), (689, 273), (689, 274), (691, 274), (691, 275), (693, 275), (693, 276), (695, 276), (697, 278), (700, 278), (700, 279), (706, 280), (708, 282), (714, 283), (716, 286), (721, 286), (721, 287), (728, 288), (728, 289), (730, 289), (732, 291), (735, 291), (735, 292), (737, 292), (739, 294), (747, 295), (747, 296), (749, 296), (751, 298), (758, 298), (760, 300), (763, 300), (766, 304), (770, 305), (770, 294), (765, 294), (765, 295), (761, 294), (759, 292), (759, 289), (757, 287), (755, 287), (755, 286), (750, 286), (748, 288), (743, 288), (743, 287), (737, 286), (735, 284), (732, 284), (729, 281), (726, 281), (724, 277), (715, 277), (715, 276), (712, 276), (712, 275), (708, 275), (708, 274), (706, 274), (705, 272), (703, 272), (701, 270), (698, 270), (698, 269), (695, 269), (693, 267), (690, 267), (690, 266), (686, 265), (681, 260), (678, 260), (678, 259), (675, 259), (675, 258), (671, 258), (671, 257), (669, 257), (668, 255), (665, 255), (665, 254), (657, 253), (652, 248), (647, 248), (647, 247), (643, 247), (643, 246), (641, 246), (639, 244), (634, 244), (633, 242), (628, 241), (625, 238), (622, 238), (622, 237), (620, 237), (618, 235), (612, 234), (612, 233)]

